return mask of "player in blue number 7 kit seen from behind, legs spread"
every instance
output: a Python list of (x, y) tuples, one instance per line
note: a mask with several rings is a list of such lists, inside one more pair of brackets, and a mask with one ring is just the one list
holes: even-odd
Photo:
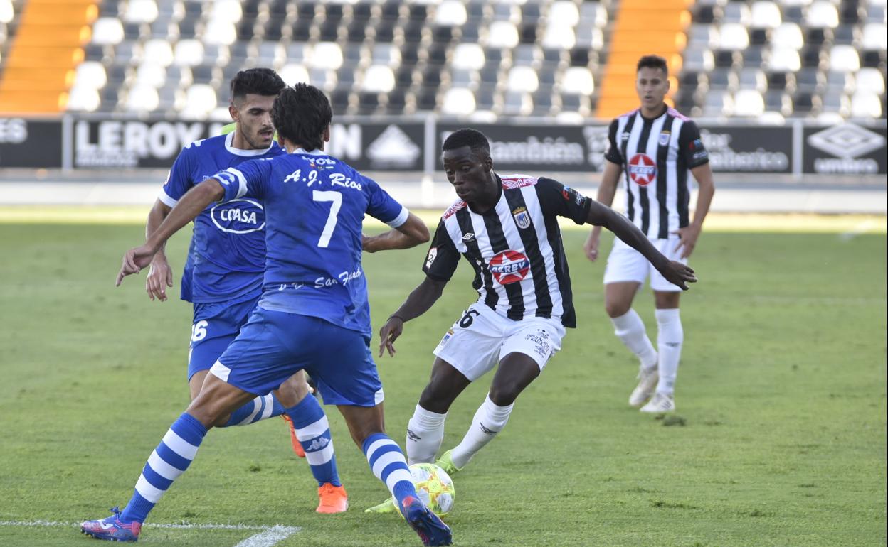
[[(147, 266), (163, 242), (214, 201), (227, 203), (249, 193), (266, 209), (266, 272), (257, 309), (148, 459), (126, 509), (84, 522), (83, 531), (134, 541), (148, 512), (194, 459), (207, 430), (305, 370), (324, 402), (338, 406), (372, 472), (423, 543), (451, 543), (450, 529), (416, 495), (403, 452), (384, 433), (383, 390), (369, 348), (361, 268), (362, 249), (416, 246), (428, 240), (429, 231), (377, 183), (323, 152), (331, 118), (320, 90), (300, 83), (281, 91), (272, 119), (289, 153), (227, 168), (198, 184), (144, 245), (124, 255), (118, 284)], [(364, 215), (392, 230), (364, 237)]]

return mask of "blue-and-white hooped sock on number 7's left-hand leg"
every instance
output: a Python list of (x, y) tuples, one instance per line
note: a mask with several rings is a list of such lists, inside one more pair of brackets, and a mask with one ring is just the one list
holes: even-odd
[(191, 465), (206, 434), (207, 428), (197, 418), (187, 413), (179, 416), (148, 457), (136, 483), (136, 491), (123, 508), (120, 520), (145, 522), (148, 512), (160, 501), (172, 481)]

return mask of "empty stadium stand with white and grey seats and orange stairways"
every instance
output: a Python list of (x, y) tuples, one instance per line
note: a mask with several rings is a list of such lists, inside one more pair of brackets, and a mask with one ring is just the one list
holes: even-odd
[(637, 103), (648, 52), (694, 116), (884, 116), (884, 0), (0, 0), (0, 111), (226, 120), (271, 66), (342, 114), (582, 121)]

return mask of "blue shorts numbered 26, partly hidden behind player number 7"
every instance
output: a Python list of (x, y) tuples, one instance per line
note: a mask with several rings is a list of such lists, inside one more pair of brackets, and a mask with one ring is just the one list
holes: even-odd
[(247, 324), (259, 297), (242, 301), (194, 303), (191, 345), (188, 347), (188, 381), (195, 372), (208, 371)]

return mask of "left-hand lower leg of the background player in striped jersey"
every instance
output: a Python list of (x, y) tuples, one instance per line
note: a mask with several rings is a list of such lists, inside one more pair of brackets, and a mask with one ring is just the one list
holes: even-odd
[(633, 407), (643, 405), (654, 394), (659, 374), (657, 352), (647, 337), (645, 324), (632, 309), (640, 283), (627, 281), (605, 285), (605, 310), (614, 324), (614, 334), (638, 357), (638, 386), (629, 396)]

